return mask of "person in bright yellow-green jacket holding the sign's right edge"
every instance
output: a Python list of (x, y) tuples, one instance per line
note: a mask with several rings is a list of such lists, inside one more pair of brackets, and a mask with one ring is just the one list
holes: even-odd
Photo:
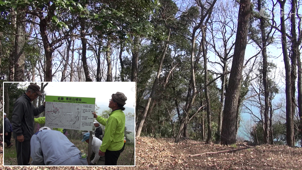
[(125, 148), (124, 131), (126, 119), (123, 111), (125, 110), (124, 105), (127, 97), (121, 92), (116, 92), (111, 97), (108, 107), (112, 109), (112, 112), (109, 114), (108, 119), (96, 115), (95, 112), (92, 113), (94, 118), (105, 126), (103, 143), (98, 152), (100, 156), (105, 156), (105, 165), (117, 165), (117, 159)]

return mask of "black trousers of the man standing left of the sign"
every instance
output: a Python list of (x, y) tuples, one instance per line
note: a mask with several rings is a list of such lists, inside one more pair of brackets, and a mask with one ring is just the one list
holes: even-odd
[(29, 165), (31, 159), (31, 141), (24, 140), (19, 142), (16, 140), (17, 162), (18, 165)]

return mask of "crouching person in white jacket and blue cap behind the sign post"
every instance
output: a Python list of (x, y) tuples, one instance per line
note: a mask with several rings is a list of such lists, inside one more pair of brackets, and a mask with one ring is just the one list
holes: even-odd
[[(82, 142), (89, 143), (89, 133), (85, 133), (83, 135)], [(102, 145), (102, 141), (97, 137), (92, 137), (91, 142), (91, 152), (93, 153), (90, 156), (90, 163), (89, 165), (105, 165), (105, 156), (99, 156), (98, 151), (100, 150), (100, 146)]]

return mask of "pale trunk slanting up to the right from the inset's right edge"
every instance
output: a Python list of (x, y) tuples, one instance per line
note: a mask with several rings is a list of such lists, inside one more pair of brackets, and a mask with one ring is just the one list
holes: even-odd
[(143, 112), (143, 118), (142, 118), (142, 120), (140, 120), (140, 124), (139, 124), (139, 126), (137, 128), (137, 133), (136, 133), (137, 137), (140, 136), (140, 133), (141, 133), (142, 128), (143, 128), (144, 121), (145, 121), (146, 116), (147, 116), (147, 112), (148, 112), (148, 109), (149, 109), (149, 105), (150, 105), (151, 99), (153, 98), (153, 95), (155, 94), (155, 90), (157, 88), (157, 84), (158, 84), (158, 80), (159, 80), (159, 75), (160, 75), (160, 72), (162, 70), (162, 63), (163, 63), (163, 61), (165, 59), (165, 55), (166, 55), (166, 52), (167, 52), (167, 49), (168, 49), (168, 44), (169, 44), (169, 40), (170, 40), (170, 33), (171, 33), (171, 28), (168, 28), (168, 38), (167, 38), (166, 43), (165, 43), (165, 48), (162, 51), (162, 55), (161, 55), (162, 57), (161, 57), (161, 60), (160, 60), (159, 66), (158, 66), (157, 75), (156, 75), (156, 78), (155, 78), (154, 83), (153, 83), (151, 94), (148, 97), (148, 100), (147, 100), (147, 103), (146, 103), (146, 106), (145, 106), (145, 109), (144, 109), (144, 112)]

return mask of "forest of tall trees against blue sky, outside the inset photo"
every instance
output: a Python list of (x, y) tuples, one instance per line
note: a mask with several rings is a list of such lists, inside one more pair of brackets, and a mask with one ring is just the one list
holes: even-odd
[(7, 81), (136, 82), (137, 137), (301, 147), (300, 6), (0, 0), (0, 110)]

